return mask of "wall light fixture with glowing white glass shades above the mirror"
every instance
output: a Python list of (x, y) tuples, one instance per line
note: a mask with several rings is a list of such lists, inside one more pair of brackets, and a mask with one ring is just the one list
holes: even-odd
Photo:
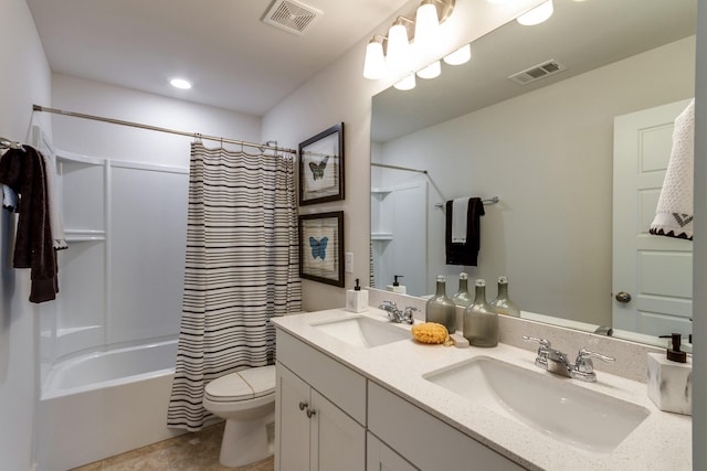
[[(407, 73), (405, 77), (395, 84), (395, 88), (414, 88), (415, 73), (411, 69), (413, 55), (430, 54), (434, 51), (440, 24), (452, 14), (454, 2), (455, 0), (422, 0), (414, 21), (400, 15), (390, 26), (388, 36), (374, 35), (366, 46), (363, 77), (378, 79), (387, 74), (400, 76)], [(433, 78), (440, 73), (440, 61), (435, 61), (416, 74), (422, 78)]]

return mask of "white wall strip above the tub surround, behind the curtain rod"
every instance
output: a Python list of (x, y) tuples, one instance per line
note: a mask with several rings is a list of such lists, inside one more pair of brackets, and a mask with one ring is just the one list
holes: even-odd
[[(53, 74), (51, 106), (150, 126), (261, 142), (261, 119), (68, 75)], [(62, 150), (173, 167), (189, 167), (191, 137), (52, 115), (54, 144)], [(218, 141), (204, 141), (219, 147)]]

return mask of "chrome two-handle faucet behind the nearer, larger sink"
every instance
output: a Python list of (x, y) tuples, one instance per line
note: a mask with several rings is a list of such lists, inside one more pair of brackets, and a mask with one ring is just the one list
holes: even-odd
[(616, 360), (583, 347), (577, 354), (574, 364), (571, 364), (564, 353), (551, 347), (549, 340), (527, 335), (524, 335), (523, 340), (540, 344), (538, 347), (538, 354), (535, 358), (536, 366), (560, 376), (572, 377), (574, 379), (585, 381), (589, 383), (597, 381), (597, 373), (594, 373), (592, 358), (599, 358), (603, 362), (613, 362)]

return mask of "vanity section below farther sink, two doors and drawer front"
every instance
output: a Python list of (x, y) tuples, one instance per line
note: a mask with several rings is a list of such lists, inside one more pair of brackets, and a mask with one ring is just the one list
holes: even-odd
[(275, 470), (363, 471), (366, 378), (279, 331), (277, 356)]

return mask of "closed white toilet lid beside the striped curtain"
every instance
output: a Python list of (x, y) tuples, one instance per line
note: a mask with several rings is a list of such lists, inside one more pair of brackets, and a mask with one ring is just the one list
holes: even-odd
[(205, 396), (214, 402), (238, 402), (275, 392), (275, 365), (241, 370), (209, 383)]

